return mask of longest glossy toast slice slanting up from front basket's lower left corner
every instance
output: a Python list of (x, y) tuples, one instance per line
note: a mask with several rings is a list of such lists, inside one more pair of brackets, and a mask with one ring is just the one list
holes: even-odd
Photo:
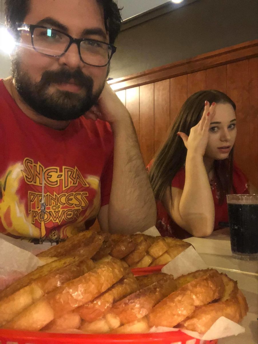
[(119, 260), (113, 258), (104, 262), (83, 276), (50, 292), (6, 323), (4, 328), (38, 331), (53, 319), (60, 318), (63, 314), (93, 300), (122, 278), (126, 272), (127, 269)]

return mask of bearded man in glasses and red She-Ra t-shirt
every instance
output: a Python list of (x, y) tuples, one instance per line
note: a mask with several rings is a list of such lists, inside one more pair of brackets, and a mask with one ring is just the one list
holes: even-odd
[(0, 80), (0, 232), (58, 242), (155, 224), (130, 115), (106, 84), (121, 17), (113, 0), (6, 0), (16, 37)]

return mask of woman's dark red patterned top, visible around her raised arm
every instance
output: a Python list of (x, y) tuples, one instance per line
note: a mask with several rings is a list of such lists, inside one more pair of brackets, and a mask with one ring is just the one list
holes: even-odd
[[(148, 165), (150, 167), (151, 163)], [(174, 179), (172, 180), (172, 187), (177, 187), (178, 189), (183, 190), (185, 185), (185, 169), (181, 168)], [(215, 208), (215, 219), (214, 219), (214, 230), (219, 229), (219, 223), (228, 222), (228, 213), (227, 213), (227, 201), (226, 197), (223, 201), (223, 204), (219, 204), (218, 191), (216, 189), (216, 182), (212, 180), (210, 182), (211, 192), (214, 200)], [(248, 193), (247, 179), (243, 172), (234, 164), (233, 169), (233, 185), (235, 192), (238, 194)], [(232, 192), (233, 193), (233, 192)], [(192, 235), (189, 234), (186, 230), (178, 226), (173, 219), (167, 213), (164, 205), (161, 201), (156, 202), (157, 205), (157, 222), (156, 227), (161, 233), (162, 236), (171, 236), (179, 239), (189, 238)]]

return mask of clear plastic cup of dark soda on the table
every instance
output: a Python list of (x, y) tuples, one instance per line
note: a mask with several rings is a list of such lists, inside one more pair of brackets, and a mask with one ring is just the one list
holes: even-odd
[(227, 195), (233, 258), (258, 259), (258, 195)]

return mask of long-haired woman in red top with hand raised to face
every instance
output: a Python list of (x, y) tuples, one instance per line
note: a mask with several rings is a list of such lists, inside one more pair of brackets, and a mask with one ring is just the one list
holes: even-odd
[(226, 194), (248, 193), (246, 177), (233, 164), (235, 110), (217, 90), (199, 91), (183, 104), (147, 166), (161, 235), (209, 236), (228, 222)]

